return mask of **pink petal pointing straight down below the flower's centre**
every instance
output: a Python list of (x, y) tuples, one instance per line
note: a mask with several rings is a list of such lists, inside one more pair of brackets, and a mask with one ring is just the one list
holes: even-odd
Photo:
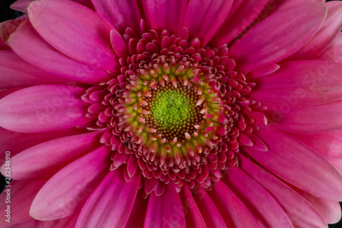
[(181, 199), (174, 186), (166, 186), (161, 196), (150, 194), (144, 227), (185, 227)]

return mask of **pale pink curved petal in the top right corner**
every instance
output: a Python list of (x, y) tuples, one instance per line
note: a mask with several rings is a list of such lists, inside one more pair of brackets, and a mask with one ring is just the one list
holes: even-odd
[(328, 8), (328, 15), (322, 27), (304, 47), (287, 58), (288, 61), (315, 58), (339, 34), (342, 29), (342, 3), (341, 1), (332, 1), (326, 3), (326, 6)]

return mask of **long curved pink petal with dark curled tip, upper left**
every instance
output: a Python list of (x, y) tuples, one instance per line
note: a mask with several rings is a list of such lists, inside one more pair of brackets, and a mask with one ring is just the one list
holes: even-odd
[(73, 60), (49, 45), (32, 27), (28, 18), (5, 21), (0, 24), (0, 29), (1, 37), (8, 42), (16, 54), (37, 68), (49, 72), (51, 78), (55, 77), (53, 75), (58, 75), (77, 81), (109, 79), (106, 71)]

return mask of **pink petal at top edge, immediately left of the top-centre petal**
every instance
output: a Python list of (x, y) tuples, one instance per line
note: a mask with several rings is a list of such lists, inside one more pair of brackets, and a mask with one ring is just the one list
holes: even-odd
[(133, 31), (140, 31), (140, 11), (136, 0), (91, 0), (95, 11), (105, 18), (120, 34), (124, 34), (127, 27)]

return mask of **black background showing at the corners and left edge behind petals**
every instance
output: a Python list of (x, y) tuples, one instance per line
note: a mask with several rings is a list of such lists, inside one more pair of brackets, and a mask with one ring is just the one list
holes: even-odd
[[(12, 0), (0, 0), (0, 22), (17, 18), (18, 16), (23, 15), (22, 12), (18, 12), (10, 9), (10, 5), (14, 3)], [(0, 190), (2, 191), (5, 186), (5, 179), (2, 175), (0, 175)], [(342, 207), (342, 203), (340, 203)], [(342, 220), (339, 223), (334, 225), (329, 225), (329, 228), (342, 228)]]

